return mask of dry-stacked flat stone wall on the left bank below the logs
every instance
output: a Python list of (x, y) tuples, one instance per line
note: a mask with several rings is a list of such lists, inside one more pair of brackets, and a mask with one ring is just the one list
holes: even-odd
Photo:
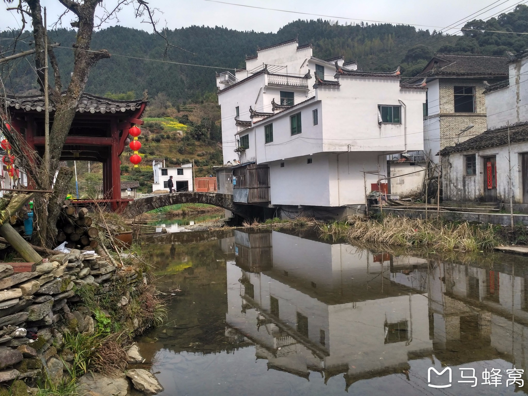
[[(15, 274), (11, 266), (0, 263), (0, 384), (13, 379), (34, 383), (42, 362), (51, 379), (60, 381), (63, 361), (69, 365), (73, 359), (68, 351), (58, 355), (65, 327), (90, 335), (97, 325), (89, 308), (77, 306), (71, 312), (67, 302), (82, 305), (75, 290), (84, 285), (106, 293), (116, 276), (127, 283), (138, 281), (134, 270), (117, 274), (97, 254), (76, 249), (51, 257), (33, 272)], [(127, 303), (124, 296), (120, 304)]]

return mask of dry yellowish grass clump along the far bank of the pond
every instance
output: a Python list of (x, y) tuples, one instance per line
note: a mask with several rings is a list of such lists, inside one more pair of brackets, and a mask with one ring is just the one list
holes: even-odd
[(499, 236), (491, 224), (410, 219), (385, 216), (381, 220), (354, 218), (346, 223), (323, 224), (320, 232), (334, 237), (383, 243), (402, 247), (427, 247), (441, 251), (491, 249)]

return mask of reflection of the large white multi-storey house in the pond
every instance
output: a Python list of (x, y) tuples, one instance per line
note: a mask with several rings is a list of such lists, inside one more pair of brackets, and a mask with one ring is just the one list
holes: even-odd
[[(235, 232), (227, 322), (258, 344), (257, 357), (270, 368), (306, 378), (320, 371), (325, 380), (344, 373), (348, 388), (430, 355), (428, 299), (383, 276), (390, 265), (383, 255), (278, 232)], [(269, 253), (257, 266), (247, 260), (250, 241)], [(256, 267), (262, 272), (251, 272)]]

